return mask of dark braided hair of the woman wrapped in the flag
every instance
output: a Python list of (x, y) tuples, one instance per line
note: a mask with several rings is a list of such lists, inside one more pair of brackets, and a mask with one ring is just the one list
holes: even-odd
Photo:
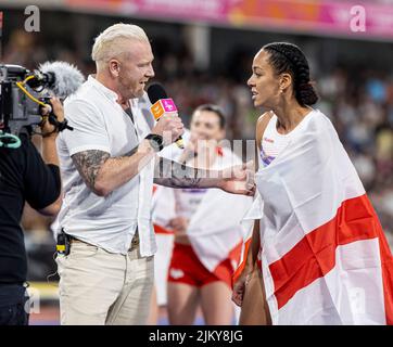
[(288, 42), (274, 42), (263, 47), (269, 53), (269, 63), (276, 73), (289, 73), (293, 78), (293, 91), (297, 102), (314, 105), (318, 95), (309, 81), (308, 62), (301, 49)]

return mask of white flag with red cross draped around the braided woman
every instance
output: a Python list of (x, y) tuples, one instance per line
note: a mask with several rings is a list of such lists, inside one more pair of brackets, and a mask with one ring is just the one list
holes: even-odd
[(330, 120), (313, 111), (255, 176), (274, 324), (393, 324), (393, 258)]

